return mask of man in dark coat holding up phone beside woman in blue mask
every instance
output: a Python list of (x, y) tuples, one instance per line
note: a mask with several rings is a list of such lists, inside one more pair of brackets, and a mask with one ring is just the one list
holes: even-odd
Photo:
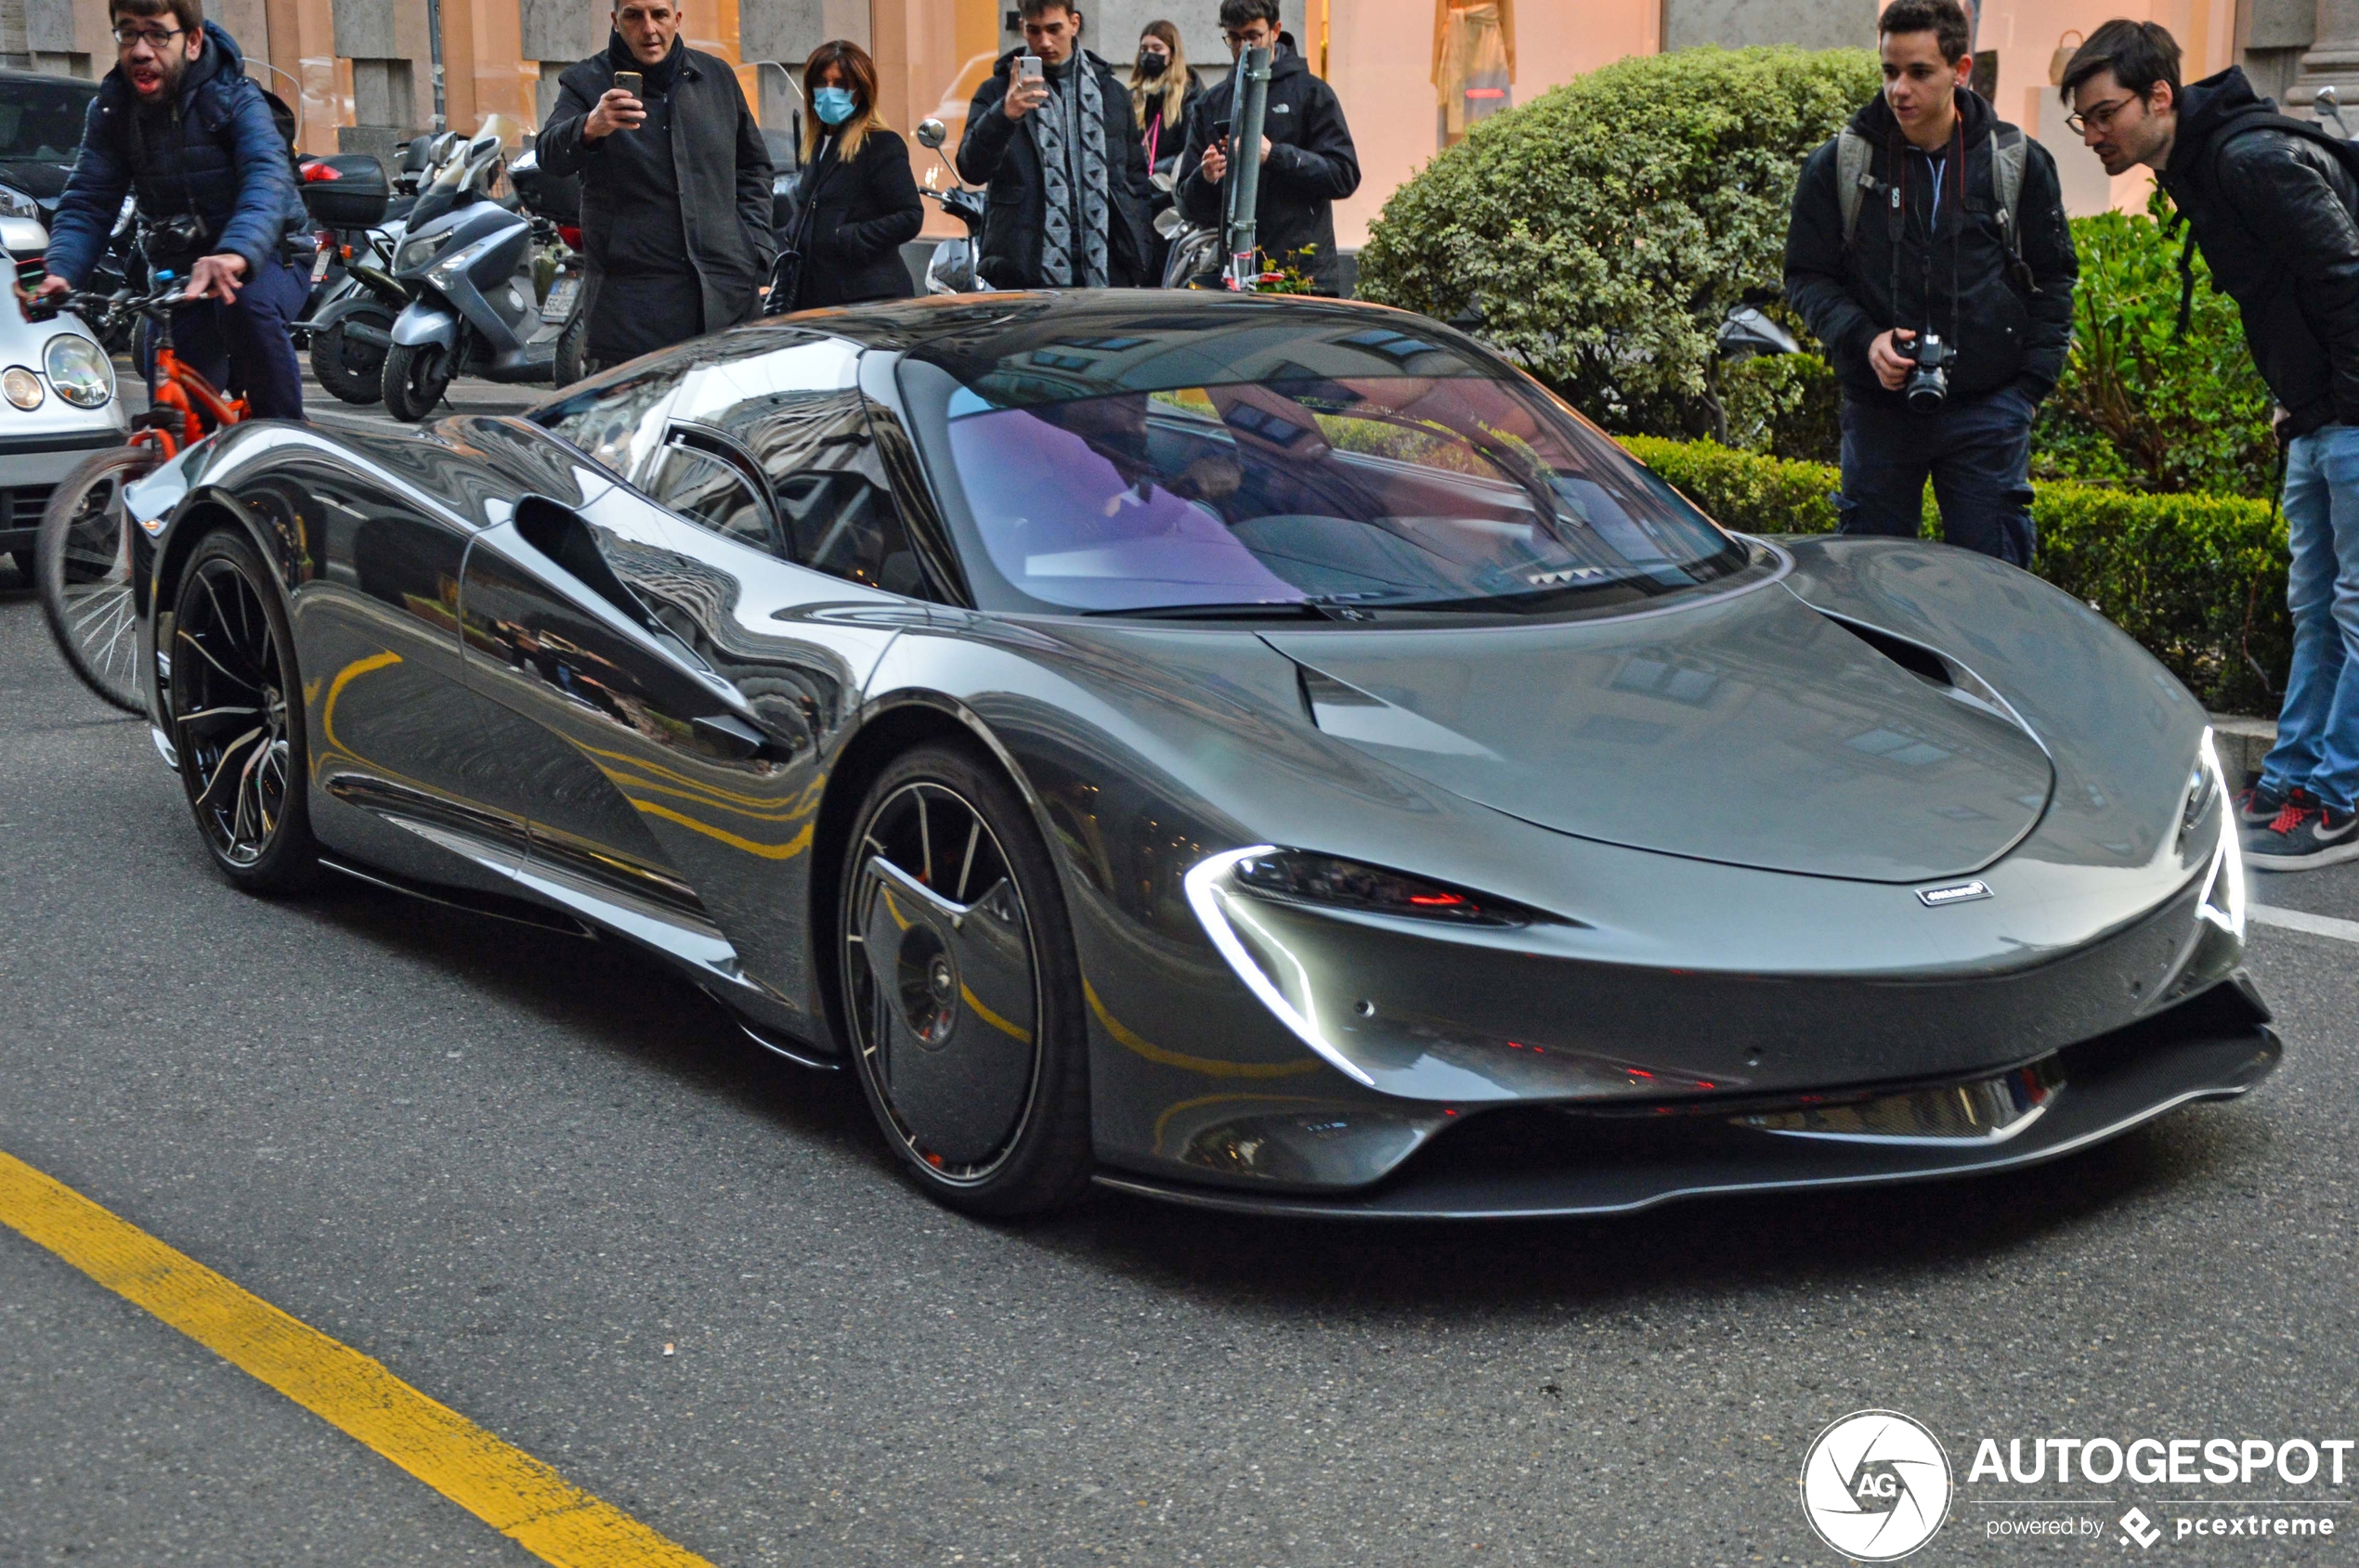
[[(559, 78), (540, 167), (583, 179), (590, 330), (613, 365), (755, 314), (776, 252), (769, 151), (727, 61), (679, 42), (675, 0), (623, 0), (604, 54)], [(613, 85), (637, 71), (644, 97)]]

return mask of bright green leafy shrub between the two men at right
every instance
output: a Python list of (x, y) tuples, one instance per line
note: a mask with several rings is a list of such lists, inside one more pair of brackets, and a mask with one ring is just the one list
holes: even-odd
[(2128, 490), (2267, 495), (2276, 481), (2269, 391), (2227, 295), (2196, 252), (2194, 314), (2180, 316), (2184, 231), (2144, 215), (2076, 217), (2081, 288), (2064, 380), (2041, 410), (2033, 474)]

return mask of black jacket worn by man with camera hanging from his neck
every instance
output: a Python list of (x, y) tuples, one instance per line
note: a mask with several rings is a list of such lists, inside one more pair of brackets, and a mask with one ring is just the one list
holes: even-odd
[[(2064, 224), (2055, 158), (2038, 141), (2029, 144), (2017, 207), (2024, 266), (2033, 285), (2024, 290), (2008, 276), (2008, 243), (1991, 189), (1991, 130), (1998, 116), (1979, 94), (1960, 90), (1958, 120), (1965, 200), (1958, 200), (1953, 139), (1934, 215), (1927, 179), (1932, 165), (1908, 146), (1882, 94), (1852, 116), (1852, 130), (1875, 146), (1868, 170), (1878, 186), (1864, 191), (1849, 248), (1842, 243), (1842, 205), (1835, 198), (1835, 141), (1802, 165), (1786, 229), (1786, 299), (1826, 347), (1826, 361), (1852, 398), (1906, 408), (1901, 394), (1885, 391), (1868, 365), (1868, 344), (1892, 328), (1932, 330), (1958, 349), (1949, 373), (1951, 396), (1958, 398), (2010, 384), (2043, 398), (2064, 375), (2071, 290), (2081, 262)], [(1894, 182), (1901, 184), (1906, 219), (1897, 248), (1887, 196)]]

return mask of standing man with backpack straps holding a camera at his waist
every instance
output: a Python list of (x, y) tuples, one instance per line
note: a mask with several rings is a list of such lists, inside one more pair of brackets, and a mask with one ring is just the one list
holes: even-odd
[(1892, 0), (1885, 90), (1802, 165), (1786, 297), (1842, 384), (1845, 533), (2031, 564), (2031, 420), (2081, 276), (2055, 160), (1970, 87), (1958, 0)]

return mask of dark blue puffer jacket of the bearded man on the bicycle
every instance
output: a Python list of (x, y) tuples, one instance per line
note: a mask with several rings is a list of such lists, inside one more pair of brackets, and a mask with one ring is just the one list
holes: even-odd
[[(99, 83), (83, 120), (83, 151), (57, 200), (47, 266), (80, 288), (106, 248), (106, 236), (132, 189), (132, 125), (139, 94), (116, 66)], [(212, 21), (205, 50), (179, 78), (170, 125), (149, 134), (153, 167), (137, 179), (139, 212), (196, 212), (212, 236), (205, 255), (234, 252), (248, 266), (278, 252), (290, 226), (302, 224), (302, 193), (288, 144), (271, 120), (262, 90), (245, 78), (238, 42)]]

